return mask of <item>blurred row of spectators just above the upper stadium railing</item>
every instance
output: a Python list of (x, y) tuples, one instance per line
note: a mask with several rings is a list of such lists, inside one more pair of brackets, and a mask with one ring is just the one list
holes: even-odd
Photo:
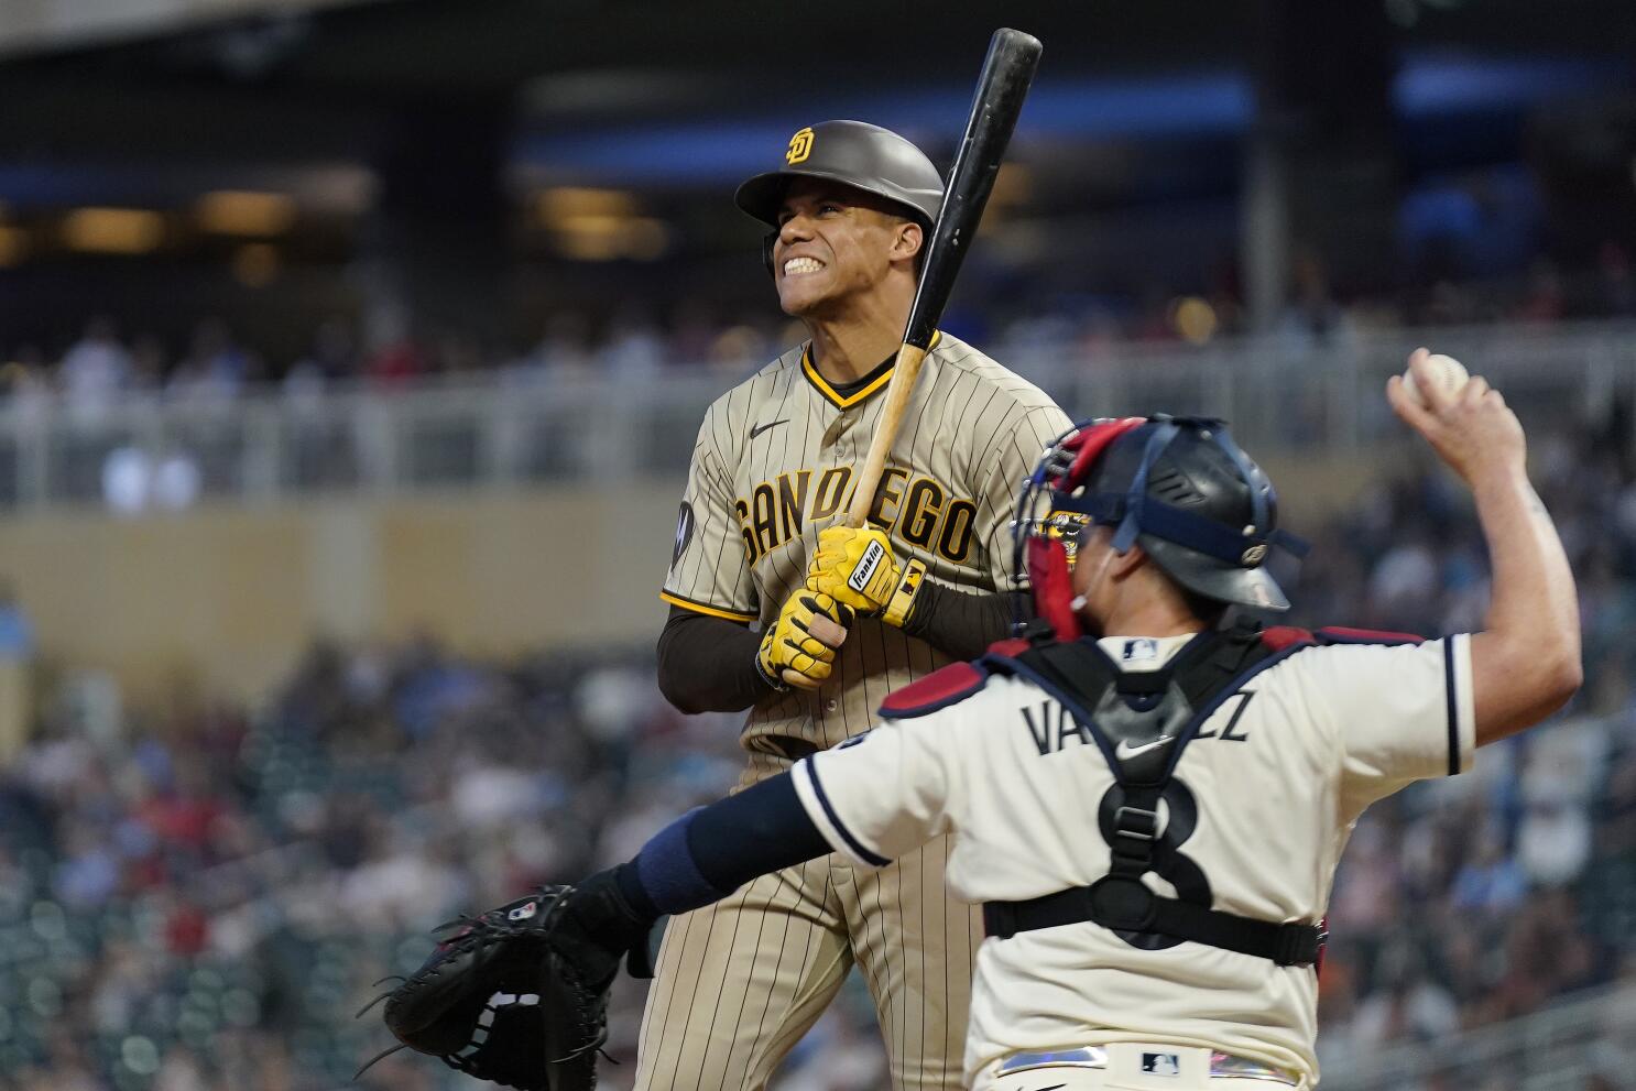
[[(1132, 294), (1055, 293), (1037, 285), (967, 294), (982, 304), (957, 301), (944, 326), (1000, 360), (1032, 345), (1070, 343), (1094, 361), (1096, 350), (1114, 342), (1207, 343), (1247, 332), (1242, 291), (1230, 273), (1211, 278), (1198, 294), (1158, 285)], [(1520, 276), (1436, 278), (1396, 296), (1340, 296), (1324, 265), (1301, 257), (1289, 296), (1271, 334), (1296, 347), (1400, 326), (1636, 317), (1631, 254), (1615, 242), (1600, 249), (1593, 268), (1564, 272), (1539, 258)], [(491, 373), (524, 383), (576, 375), (641, 379), (677, 366), (739, 375), (803, 337), (771, 296), (751, 312), (721, 312), (703, 299), (684, 299), (664, 316), (635, 301), (597, 319), (564, 311), (546, 317), (532, 343), (416, 329), (399, 314), (366, 324), (330, 317), (303, 352), (286, 355), (249, 343), (221, 317), (160, 334), (93, 316), (52, 343), (0, 342), (0, 404), (61, 402), (95, 412), (131, 396), (209, 404), (257, 388), (290, 394), (358, 383), (394, 389)]]

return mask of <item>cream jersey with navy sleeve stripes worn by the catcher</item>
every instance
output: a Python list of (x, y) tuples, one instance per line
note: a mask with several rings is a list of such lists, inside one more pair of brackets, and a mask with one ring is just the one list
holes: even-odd
[[(1157, 667), (1186, 641), (1099, 644), (1139, 669), (1139, 656)], [(1469, 767), (1474, 731), (1467, 636), (1301, 648), (1225, 695), (1186, 744), (1160, 836), (1202, 873), (1216, 909), (1317, 923), (1363, 810)], [(955, 703), (887, 720), (797, 764), (793, 779), (829, 844), (859, 864), (952, 833), (947, 885), (967, 901), (1039, 898), (1109, 869), (1098, 823), (1114, 785), (1108, 762), (1019, 677), (996, 674)], [(1145, 882), (1176, 896), (1152, 873)], [(975, 1081), (1018, 1050), (1140, 1040), (1211, 1047), (1315, 1081), (1315, 1034), (1312, 968), (1193, 942), (1147, 950), (1080, 923), (983, 941), (965, 1068)]]

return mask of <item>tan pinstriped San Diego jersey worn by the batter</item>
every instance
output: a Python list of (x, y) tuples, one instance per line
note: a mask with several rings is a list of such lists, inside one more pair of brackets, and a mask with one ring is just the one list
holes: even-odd
[[(718, 397), (699, 429), (661, 597), (735, 622), (774, 620), (805, 582), (818, 532), (846, 517), (890, 376), (887, 366), (861, 389), (838, 391), (802, 345)], [(870, 522), (892, 537), (900, 563), (923, 561), (928, 579), (1011, 589), (1018, 486), (1070, 425), (1037, 386), (939, 334)], [(769, 694), (749, 712), (743, 743), (771, 754), (833, 746), (865, 731), (890, 690), (946, 662), (931, 644), (859, 618), (823, 689)]]

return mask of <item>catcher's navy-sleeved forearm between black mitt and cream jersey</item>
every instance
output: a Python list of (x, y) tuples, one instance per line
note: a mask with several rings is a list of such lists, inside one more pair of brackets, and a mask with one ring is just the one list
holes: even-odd
[(620, 890), (649, 916), (720, 901), (771, 872), (829, 854), (789, 774), (689, 811), (617, 870)]

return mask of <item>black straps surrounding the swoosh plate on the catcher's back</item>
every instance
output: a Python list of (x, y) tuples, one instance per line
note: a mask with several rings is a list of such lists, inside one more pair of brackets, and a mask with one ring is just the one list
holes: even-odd
[[(1325, 939), (1325, 932), (1315, 924), (1274, 924), (1222, 913), (1157, 895), (1142, 882), (1153, 870), (1153, 847), (1160, 839), (1160, 800), (1181, 749), (1198, 733), (1202, 718), (1199, 712), (1207, 713), (1216, 695), (1271, 654), (1253, 630), (1232, 630), (1194, 641), (1163, 671), (1150, 672), (1119, 672), (1086, 643), (1042, 643), (1014, 658), (988, 656), (985, 662), (990, 667), (1042, 684), (1093, 733), (1124, 790), (1124, 805), (1114, 813), (1108, 875), (1090, 887), (1042, 898), (985, 903), (983, 931), (996, 939), (1009, 939), (1018, 932), (1091, 921), (1117, 932), (1166, 936), (1270, 959), (1281, 967), (1315, 963)], [(1093, 721), (1088, 710), (1103, 707), (1109, 690), (1122, 695), (1180, 690), (1184, 726), (1176, 733), (1170, 761), (1158, 770), (1134, 777), (1116, 757), (1112, 741)], [(1166, 713), (1162, 703), (1153, 712), (1175, 718), (1178, 710), (1170, 708)]]

